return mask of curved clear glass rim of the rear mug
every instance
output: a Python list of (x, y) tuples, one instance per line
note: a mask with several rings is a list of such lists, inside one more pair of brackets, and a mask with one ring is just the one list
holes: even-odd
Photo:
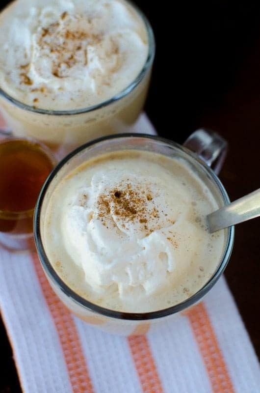
[[(91, 105), (86, 108), (80, 108), (80, 109), (68, 110), (68, 111), (66, 111), (66, 110), (59, 110), (59, 111), (54, 110), (53, 111), (53, 110), (48, 110), (48, 109), (35, 108), (33, 106), (24, 104), (23, 102), (15, 99), (10, 94), (8, 94), (6, 91), (4, 91), (1, 87), (0, 87), (0, 96), (5, 98), (11, 104), (14, 104), (16, 107), (26, 110), (28, 112), (48, 114), (48, 115), (53, 115), (53, 116), (64, 116), (64, 115), (70, 116), (70, 115), (77, 115), (77, 114), (97, 111), (98, 109), (107, 107), (107, 106), (121, 100), (121, 98), (124, 98), (128, 94), (130, 94), (130, 92), (132, 90), (134, 90), (138, 84), (140, 84), (140, 82), (146, 76), (147, 72), (151, 69), (151, 66), (152, 66), (154, 58), (155, 58), (156, 43), (155, 43), (153, 28), (152, 28), (148, 18), (146, 17), (146, 15), (141, 11), (141, 9), (133, 1), (131, 1), (131, 0), (125, 0), (125, 1), (127, 3), (129, 3), (135, 9), (135, 11), (140, 16), (140, 18), (142, 19), (142, 21), (145, 25), (145, 28), (147, 31), (147, 36), (148, 36), (148, 55), (147, 55), (144, 65), (143, 65), (142, 69), (140, 70), (140, 72), (138, 73), (137, 77), (128, 86), (126, 86), (123, 90), (121, 90), (119, 93), (115, 94), (114, 96), (112, 96), (112, 97), (110, 97), (110, 98), (108, 98), (98, 104)], [(5, 8), (3, 8), (3, 10), (1, 12), (3, 12)]]

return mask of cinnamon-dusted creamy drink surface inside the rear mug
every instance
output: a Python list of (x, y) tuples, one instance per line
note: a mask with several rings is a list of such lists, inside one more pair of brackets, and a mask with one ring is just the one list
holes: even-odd
[(41, 109), (73, 110), (124, 90), (148, 56), (124, 0), (16, 0), (0, 14), (0, 87)]

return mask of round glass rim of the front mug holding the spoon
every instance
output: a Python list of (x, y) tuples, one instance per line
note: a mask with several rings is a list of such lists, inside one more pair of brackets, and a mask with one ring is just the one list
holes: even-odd
[(124, 312), (124, 311), (116, 311), (112, 309), (106, 309), (102, 306), (99, 306), (95, 303), (92, 303), (85, 298), (81, 297), (78, 295), (74, 290), (72, 290), (55, 272), (54, 268), (52, 267), (51, 262), (49, 261), (49, 258), (47, 254), (45, 253), (43, 242), (41, 239), (41, 230), (40, 230), (40, 215), (41, 215), (41, 208), (43, 204), (44, 197), (48, 191), (49, 185), (51, 184), (53, 178), (56, 176), (56, 174), (59, 172), (59, 170), (66, 165), (68, 161), (73, 159), (78, 153), (82, 152), (85, 149), (88, 149), (89, 147), (102, 143), (106, 140), (112, 140), (112, 139), (132, 139), (132, 138), (143, 138), (143, 139), (149, 139), (149, 140), (155, 140), (157, 142), (163, 142), (167, 145), (170, 145), (171, 147), (177, 148), (187, 154), (188, 156), (191, 156), (197, 163), (199, 163), (210, 175), (210, 178), (214, 181), (215, 185), (217, 186), (224, 204), (230, 203), (230, 199), (228, 197), (228, 194), (222, 185), (221, 181), (217, 177), (217, 175), (214, 173), (214, 171), (202, 160), (199, 158), (199, 156), (193, 152), (191, 152), (189, 149), (183, 147), (179, 143), (173, 142), (171, 140), (167, 140), (158, 136), (153, 136), (153, 135), (147, 135), (147, 134), (137, 134), (137, 133), (124, 133), (124, 134), (115, 134), (115, 135), (109, 135), (105, 136), (102, 138), (98, 138), (96, 140), (91, 140), (87, 143), (84, 143), (83, 145), (79, 146), (77, 149), (69, 153), (66, 157), (64, 157), (60, 163), (52, 170), (48, 178), (46, 179), (41, 192), (39, 194), (36, 206), (35, 206), (35, 211), (34, 211), (34, 220), (33, 220), (33, 226), (34, 226), (34, 240), (36, 244), (36, 249), (39, 255), (39, 260), (41, 262), (41, 265), (44, 269), (45, 274), (48, 276), (48, 278), (51, 281), (54, 281), (55, 284), (58, 285), (59, 289), (69, 298), (71, 298), (74, 302), (76, 302), (78, 305), (81, 307), (84, 307), (85, 309), (88, 309), (94, 313), (98, 313), (101, 315), (104, 315), (106, 317), (111, 317), (115, 319), (121, 319), (121, 320), (135, 320), (135, 321), (140, 321), (140, 320), (153, 320), (156, 318), (161, 318), (165, 317), (171, 314), (175, 314), (179, 311), (182, 311), (184, 309), (187, 309), (197, 303), (206, 293), (212, 288), (212, 286), (218, 281), (220, 278), (221, 274), (224, 272), (228, 261), (230, 259), (233, 245), (234, 245), (234, 226), (231, 226), (227, 228), (228, 234), (227, 234), (227, 240), (226, 240), (226, 245), (225, 249), (222, 254), (221, 261), (218, 265), (218, 268), (212, 275), (212, 277), (206, 282), (206, 284), (199, 289), (195, 294), (193, 294), (191, 297), (185, 299), (181, 303), (178, 303), (177, 305), (168, 307), (166, 309), (161, 309), (161, 310), (156, 310), (156, 311), (149, 311), (149, 312)]

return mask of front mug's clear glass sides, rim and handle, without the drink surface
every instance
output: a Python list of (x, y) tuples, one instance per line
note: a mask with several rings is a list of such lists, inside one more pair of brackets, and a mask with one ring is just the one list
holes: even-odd
[[(34, 215), (34, 236), (37, 252), (54, 292), (74, 314), (87, 323), (98, 326), (104, 331), (124, 336), (140, 335), (151, 328), (154, 330), (156, 326), (159, 326), (166, 320), (175, 318), (180, 311), (201, 300), (216, 283), (227, 266), (234, 243), (234, 227), (225, 229), (225, 247), (222, 258), (210, 280), (197, 293), (182, 303), (167, 309), (146, 313), (130, 313), (105, 309), (80, 297), (57, 275), (45, 253), (42, 236), (43, 221), (53, 190), (71, 170), (105, 152), (133, 149), (161, 153), (168, 157), (180, 157), (207, 184), (219, 206), (228, 204), (230, 200), (223, 185), (215, 172), (209, 167), (210, 164), (214, 165), (216, 171), (220, 169), (227, 148), (226, 141), (213, 132), (198, 130), (188, 138), (184, 146), (170, 140), (143, 134), (120, 134), (93, 140), (65, 157), (54, 168), (43, 186)], [(198, 154), (191, 150), (197, 151)]]

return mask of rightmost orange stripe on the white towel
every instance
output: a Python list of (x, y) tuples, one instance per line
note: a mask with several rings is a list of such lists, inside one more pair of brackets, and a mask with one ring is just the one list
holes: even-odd
[(224, 357), (211, 325), (205, 305), (199, 303), (186, 311), (208, 372), (212, 393), (234, 393)]

